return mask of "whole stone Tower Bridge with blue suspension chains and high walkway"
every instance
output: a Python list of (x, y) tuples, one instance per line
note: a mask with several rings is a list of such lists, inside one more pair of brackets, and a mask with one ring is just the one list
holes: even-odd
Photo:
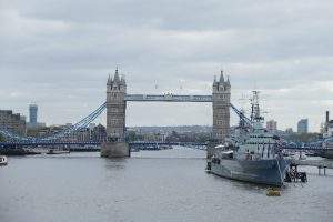
[[(224, 80), (221, 72), (219, 81), (214, 79), (211, 95), (179, 95), (179, 94), (128, 94), (124, 78), (119, 78), (118, 70), (107, 82), (107, 102), (97, 108), (89, 115), (71, 125), (70, 128), (48, 135), (46, 138), (33, 138), (18, 134), (0, 125), (0, 133), (10, 139), (10, 142), (0, 143), (3, 145), (39, 145), (39, 144), (72, 144), (68, 142), (69, 135), (85, 129), (89, 123), (95, 120), (107, 109), (107, 138), (108, 142), (102, 145), (102, 157), (129, 155), (129, 144), (124, 140), (125, 132), (125, 107), (127, 102), (211, 102), (213, 108), (213, 138), (223, 142), (230, 130), (230, 110), (232, 109), (244, 123), (251, 125), (251, 120), (230, 103), (231, 84), (229, 78)], [(230, 109), (231, 108), (231, 109)], [(63, 140), (64, 139), (64, 140)], [(332, 141), (333, 137), (322, 139), (321, 143)], [(78, 144), (89, 144), (91, 141), (79, 141)], [(93, 143), (93, 142), (92, 142)], [(324, 145), (316, 147), (291, 147), (283, 145), (280, 149), (287, 150), (322, 150), (329, 151), (332, 148)]]

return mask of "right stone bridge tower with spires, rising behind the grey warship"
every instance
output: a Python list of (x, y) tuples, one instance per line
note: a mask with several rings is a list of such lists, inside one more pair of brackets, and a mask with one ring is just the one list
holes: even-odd
[(223, 71), (220, 80), (213, 83), (213, 138), (224, 142), (230, 131), (230, 80), (224, 81)]

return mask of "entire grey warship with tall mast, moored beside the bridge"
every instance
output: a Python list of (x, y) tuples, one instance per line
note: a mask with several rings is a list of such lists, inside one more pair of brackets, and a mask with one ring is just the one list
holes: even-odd
[(239, 133), (215, 147), (214, 155), (208, 160), (208, 170), (229, 179), (281, 186), (291, 160), (279, 149), (280, 138), (263, 127), (258, 91), (253, 91), (251, 104), (248, 125), (241, 120)]

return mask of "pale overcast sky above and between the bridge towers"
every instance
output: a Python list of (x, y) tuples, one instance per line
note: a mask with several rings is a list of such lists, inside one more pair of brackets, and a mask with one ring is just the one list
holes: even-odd
[[(117, 65), (128, 93), (211, 94), (222, 68), (232, 103), (260, 90), (279, 129), (333, 117), (332, 0), (0, 2), (0, 109), (28, 117), (33, 102), (40, 122), (77, 122)], [(127, 125), (179, 124), (212, 124), (212, 104), (128, 103)]]

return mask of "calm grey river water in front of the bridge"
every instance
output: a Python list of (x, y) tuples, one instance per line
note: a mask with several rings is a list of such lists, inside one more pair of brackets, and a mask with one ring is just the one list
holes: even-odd
[(333, 221), (333, 171), (307, 172), (281, 196), (204, 171), (205, 152), (141, 151), (9, 157), (0, 168), (1, 222)]

